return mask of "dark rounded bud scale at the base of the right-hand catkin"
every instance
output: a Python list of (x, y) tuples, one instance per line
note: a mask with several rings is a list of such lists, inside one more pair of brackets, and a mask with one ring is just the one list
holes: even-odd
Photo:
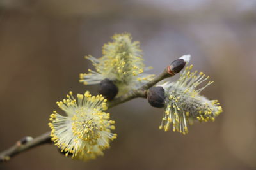
[(148, 89), (147, 99), (151, 106), (155, 108), (163, 108), (165, 104), (165, 94), (163, 87), (150, 87), (150, 89)]

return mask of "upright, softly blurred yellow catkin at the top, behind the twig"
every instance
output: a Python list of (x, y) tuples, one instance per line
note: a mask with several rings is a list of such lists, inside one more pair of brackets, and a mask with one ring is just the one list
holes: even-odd
[(79, 81), (90, 85), (108, 78), (115, 81), (119, 91), (117, 95), (120, 96), (131, 89), (141, 87), (152, 80), (154, 75), (144, 73), (150, 67), (145, 67), (140, 43), (132, 41), (130, 34), (115, 34), (112, 39), (112, 42), (103, 46), (102, 57), (86, 57), (92, 61), (96, 71), (88, 70), (89, 73), (80, 74)]

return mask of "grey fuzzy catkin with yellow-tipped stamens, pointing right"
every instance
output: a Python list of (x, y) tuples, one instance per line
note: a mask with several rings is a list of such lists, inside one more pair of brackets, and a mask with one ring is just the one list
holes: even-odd
[(198, 85), (209, 79), (205, 74), (197, 71), (191, 72), (192, 65), (186, 67), (180, 74), (179, 80), (173, 83), (164, 83), (162, 86), (166, 91), (166, 105), (160, 129), (165, 131), (170, 129), (173, 124), (173, 131), (182, 134), (188, 133), (188, 124), (193, 122), (214, 122), (215, 117), (222, 112), (218, 101), (200, 96), (200, 92), (213, 81), (197, 89)]

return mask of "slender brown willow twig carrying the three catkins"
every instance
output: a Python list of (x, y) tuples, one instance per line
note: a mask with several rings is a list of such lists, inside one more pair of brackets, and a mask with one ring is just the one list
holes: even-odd
[[(149, 81), (142, 87), (135, 90), (131, 90), (130, 92), (127, 92), (127, 94), (124, 94), (120, 97), (116, 97), (115, 99), (113, 99), (113, 101), (108, 101), (108, 108), (112, 108), (113, 106), (124, 103), (136, 97), (147, 98), (147, 90), (150, 87), (156, 85), (156, 83), (163, 80), (164, 78), (174, 76), (175, 73), (179, 73), (179, 71), (183, 69), (184, 66), (180, 67), (180, 64), (178, 64), (178, 67), (177, 67), (177, 61), (180, 62), (180, 59), (172, 62), (170, 66), (164, 69), (163, 73), (159, 74), (158, 76), (153, 78), (151, 81)], [(184, 60), (182, 60), (182, 62), (184, 62)], [(184, 63), (182, 64), (184, 65)], [(14, 146), (0, 153), (0, 162), (8, 161), (11, 159), (11, 157), (19, 153), (22, 153), (26, 150), (29, 150), (31, 148), (34, 148), (35, 146), (39, 146), (45, 143), (51, 143), (50, 134), (51, 132), (47, 132), (34, 139), (31, 139), (31, 141), (28, 141), (26, 143), (22, 143), (22, 141), (17, 141), (17, 143)]]

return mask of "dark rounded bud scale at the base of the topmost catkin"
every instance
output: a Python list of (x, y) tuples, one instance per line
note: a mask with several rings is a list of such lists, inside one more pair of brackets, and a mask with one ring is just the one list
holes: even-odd
[(118, 93), (118, 87), (113, 83), (113, 81), (105, 78), (100, 82), (99, 93), (111, 101)]

